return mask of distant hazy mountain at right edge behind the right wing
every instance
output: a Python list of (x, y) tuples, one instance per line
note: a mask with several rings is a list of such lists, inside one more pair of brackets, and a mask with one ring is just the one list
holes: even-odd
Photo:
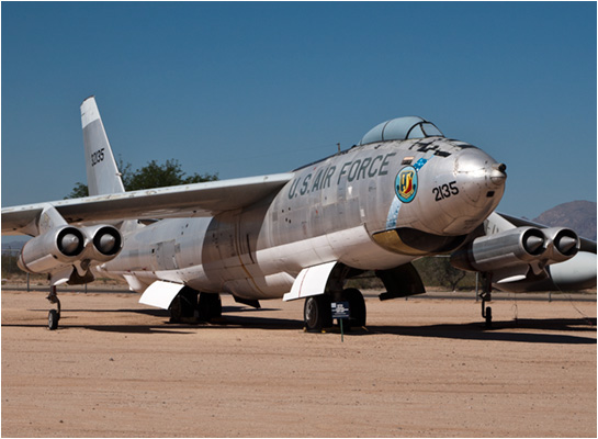
[(573, 228), (577, 235), (596, 240), (596, 203), (591, 201), (572, 201), (558, 204), (533, 219), (546, 226)]

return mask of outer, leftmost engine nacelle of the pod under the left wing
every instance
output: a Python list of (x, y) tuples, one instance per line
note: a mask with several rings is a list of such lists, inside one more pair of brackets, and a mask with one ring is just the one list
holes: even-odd
[(30, 273), (47, 273), (81, 259), (84, 249), (86, 236), (79, 228), (60, 226), (30, 239), (16, 263)]

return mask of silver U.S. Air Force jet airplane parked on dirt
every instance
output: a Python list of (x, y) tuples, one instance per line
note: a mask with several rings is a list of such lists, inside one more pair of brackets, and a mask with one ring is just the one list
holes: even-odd
[(125, 192), (94, 97), (81, 104), (89, 196), (2, 209), (2, 234), (30, 239), (19, 267), (47, 273), (48, 328), (60, 318), (57, 285), (124, 279), (142, 304), (172, 322), (222, 316), (221, 294), (304, 300), (308, 331), (366, 323), (347, 280), (373, 271), (381, 300), (426, 292), (415, 259), (450, 255), (492, 289), (596, 285), (596, 241), (496, 213), (506, 165), (431, 122), (383, 122), (359, 144), (291, 172)]

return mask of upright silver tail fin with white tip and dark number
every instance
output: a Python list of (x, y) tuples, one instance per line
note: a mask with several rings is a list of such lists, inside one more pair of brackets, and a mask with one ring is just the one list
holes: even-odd
[(94, 97), (89, 97), (81, 104), (81, 124), (89, 194), (104, 195), (124, 192), (121, 172), (116, 167)]

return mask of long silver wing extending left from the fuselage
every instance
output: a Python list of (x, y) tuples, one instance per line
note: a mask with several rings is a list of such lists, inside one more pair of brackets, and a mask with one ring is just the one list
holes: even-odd
[(36, 235), (37, 219), (48, 205), (67, 223), (213, 216), (279, 192), (293, 176), (275, 173), (3, 207), (2, 234)]

